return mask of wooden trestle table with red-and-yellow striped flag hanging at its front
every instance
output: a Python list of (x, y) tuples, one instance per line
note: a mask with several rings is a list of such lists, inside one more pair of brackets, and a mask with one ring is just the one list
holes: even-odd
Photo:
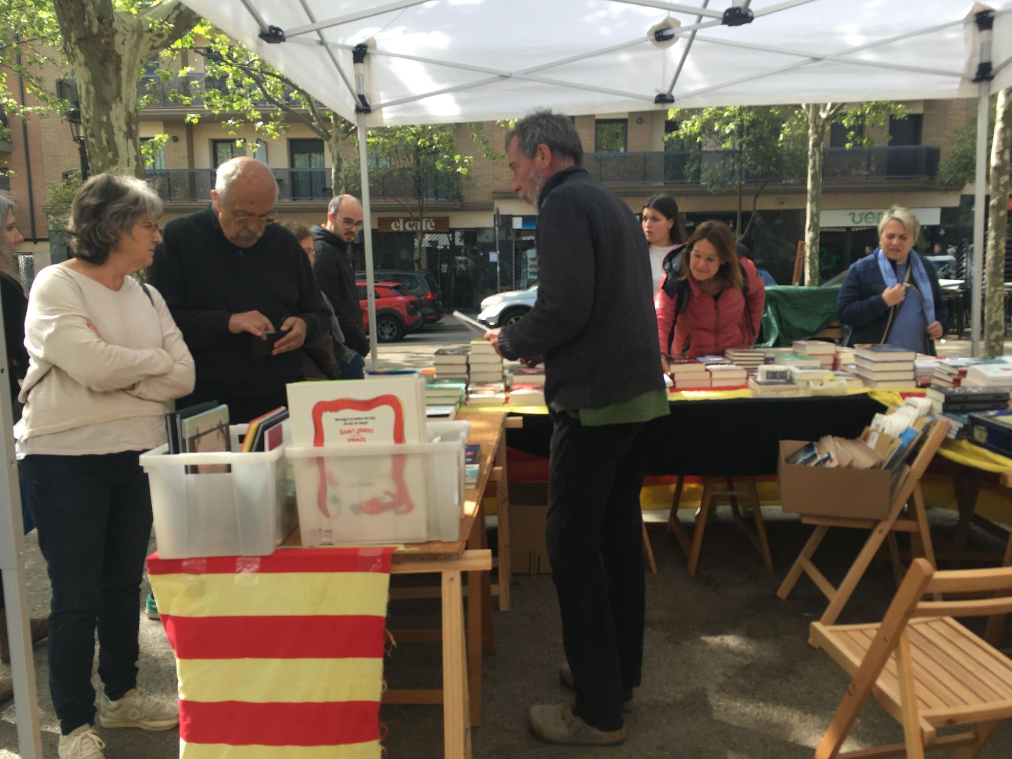
[[(492, 625), (492, 552), (488, 547), (482, 497), (490, 482), (496, 483), (499, 516), (499, 599), (500, 608), (509, 607), (509, 498), (506, 487), (507, 412), (461, 414), (471, 422), (469, 444), (481, 445), (479, 477), (465, 494), (463, 516), (456, 540), (410, 543), (394, 552), (392, 575), (438, 574), (440, 586), (392, 589), (392, 598), (439, 597), (442, 600), (441, 628), (437, 630), (391, 630), (395, 640), (442, 643), (442, 688), (388, 689), (384, 703), (442, 704), (443, 756), (461, 759), (471, 756), (471, 728), (481, 721), (482, 655), (495, 651)], [(299, 530), (284, 542), (302, 544)], [(463, 615), (461, 573), (468, 578), (467, 624)], [(398, 592), (398, 591), (401, 592)]]

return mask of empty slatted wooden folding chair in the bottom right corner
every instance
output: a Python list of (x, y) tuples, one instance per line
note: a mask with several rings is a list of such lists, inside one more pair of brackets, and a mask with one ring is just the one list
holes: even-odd
[[(926, 601), (944, 593), (986, 592), (975, 600)], [(936, 572), (915, 559), (880, 623), (813, 622), (810, 643), (824, 649), (852, 680), (815, 759), (923, 759), (925, 751), (955, 749), (975, 759), (1002, 721), (1012, 718), (1012, 660), (953, 616), (1012, 611), (1012, 567)], [(904, 742), (841, 753), (857, 714), (874, 695), (902, 725)], [(940, 728), (973, 726), (956, 734)]]

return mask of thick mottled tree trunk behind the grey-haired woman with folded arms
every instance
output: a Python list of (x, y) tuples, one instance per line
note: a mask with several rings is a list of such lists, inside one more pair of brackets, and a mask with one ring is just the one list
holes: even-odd
[(137, 110), (141, 70), (200, 17), (178, 0), (136, 15), (114, 11), (111, 0), (54, 0), (53, 6), (77, 84), (91, 173), (143, 177)]

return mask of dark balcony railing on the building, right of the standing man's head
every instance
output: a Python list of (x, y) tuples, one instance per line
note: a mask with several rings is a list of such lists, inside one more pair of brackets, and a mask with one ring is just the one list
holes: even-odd
[[(872, 181), (933, 179), (941, 150), (929, 145), (826, 148), (823, 179)], [(655, 151), (650, 153), (588, 153), (583, 165), (605, 184), (698, 184), (703, 178), (732, 180), (731, 151)], [(763, 181), (762, 177), (746, 177)], [(805, 181), (805, 176), (778, 178)]]

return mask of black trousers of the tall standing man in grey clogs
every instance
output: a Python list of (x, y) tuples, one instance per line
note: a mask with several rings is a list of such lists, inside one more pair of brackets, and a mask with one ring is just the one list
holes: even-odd
[(576, 712), (622, 727), (643, 668), (643, 424), (585, 427), (553, 412), (546, 543)]

